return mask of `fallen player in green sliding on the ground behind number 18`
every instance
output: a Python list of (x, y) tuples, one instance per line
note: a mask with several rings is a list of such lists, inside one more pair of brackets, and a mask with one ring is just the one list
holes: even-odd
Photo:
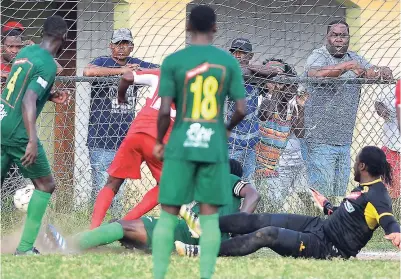
[[(231, 189), (227, 189), (227, 193), (231, 194), (232, 198), (226, 205), (219, 208), (219, 216), (233, 214), (238, 211), (247, 214), (252, 213), (260, 200), (260, 195), (250, 183), (240, 179), (243, 170), (238, 161), (230, 160), (230, 172), (231, 174), (227, 179), (230, 181), (229, 185)], [(174, 241), (194, 245), (199, 243), (198, 213), (199, 206), (195, 203), (181, 208), (180, 215), (184, 220), (180, 220), (175, 229)], [(101, 225), (91, 231), (79, 233), (68, 242), (52, 225), (48, 226), (46, 235), (47, 239), (50, 240), (51, 246), (61, 251), (86, 250), (117, 240), (127, 248), (150, 250), (152, 247), (153, 229), (157, 221), (158, 218), (150, 216), (130, 221), (119, 220)], [(187, 223), (192, 227), (192, 230), (189, 229)], [(228, 238), (228, 234), (222, 234), (222, 240)], [(198, 251), (194, 251), (194, 254), (197, 253)]]

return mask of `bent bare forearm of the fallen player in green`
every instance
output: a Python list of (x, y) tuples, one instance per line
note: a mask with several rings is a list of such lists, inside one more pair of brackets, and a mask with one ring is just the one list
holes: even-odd
[(260, 194), (251, 183), (239, 180), (234, 188), (234, 195), (243, 198), (240, 212), (253, 213), (260, 201)]

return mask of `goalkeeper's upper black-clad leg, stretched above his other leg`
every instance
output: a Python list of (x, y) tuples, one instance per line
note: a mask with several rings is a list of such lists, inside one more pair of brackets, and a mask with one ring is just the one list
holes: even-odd
[(221, 232), (233, 234), (247, 234), (268, 226), (301, 232), (306, 228), (319, 226), (321, 222), (322, 219), (319, 217), (298, 214), (249, 214), (241, 212), (219, 218)]

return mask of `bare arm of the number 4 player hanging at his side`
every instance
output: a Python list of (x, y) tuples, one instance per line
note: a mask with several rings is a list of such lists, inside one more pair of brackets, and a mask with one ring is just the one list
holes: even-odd
[(28, 134), (28, 145), (25, 155), (21, 158), (22, 165), (29, 166), (36, 160), (38, 154), (38, 136), (36, 132), (36, 100), (38, 95), (31, 89), (25, 92), (22, 99), (22, 118)]

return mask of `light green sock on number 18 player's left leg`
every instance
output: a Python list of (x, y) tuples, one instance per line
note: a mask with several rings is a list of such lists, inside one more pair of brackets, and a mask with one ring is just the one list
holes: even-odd
[(174, 247), (174, 231), (177, 224), (176, 215), (161, 211), (152, 237), (153, 276), (156, 279), (164, 278), (166, 275)]

